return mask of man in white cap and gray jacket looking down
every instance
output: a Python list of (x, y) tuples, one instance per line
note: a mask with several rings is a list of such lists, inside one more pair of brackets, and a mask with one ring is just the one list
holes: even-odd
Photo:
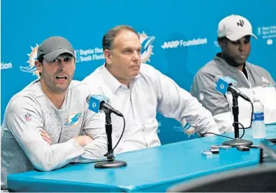
[[(240, 15), (229, 15), (219, 22), (217, 36), (221, 52), (196, 73), (191, 95), (211, 111), (219, 131), (233, 131), (232, 96), (224, 96), (216, 90), (216, 79), (229, 76), (238, 82), (237, 87), (249, 99), (259, 99), (263, 103), (266, 123), (276, 122), (275, 81), (268, 71), (247, 62), (250, 38), (256, 38), (250, 22)], [(241, 97), (238, 104), (239, 122), (249, 127), (251, 104)]]

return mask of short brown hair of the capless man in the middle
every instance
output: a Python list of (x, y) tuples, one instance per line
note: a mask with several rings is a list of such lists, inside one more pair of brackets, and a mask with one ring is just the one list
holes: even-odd
[(133, 33), (135, 33), (138, 36), (138, 38), (140, 38), (137, 31), (135, 31), (135, 29), (133, 29), (132, 27), (130, 27), (128, 25), (117, 25), (117, 26), (109, 29), (108, 32), (106, 32), (106, 34), (103, 36), (103, 50), (111, 50), (112, 49), (112, 45), (113, 45), (115, 37), (117, 36), (117, 34), (119, 34), (119, 31), (122, 31), (122, 30), (132, 31)]

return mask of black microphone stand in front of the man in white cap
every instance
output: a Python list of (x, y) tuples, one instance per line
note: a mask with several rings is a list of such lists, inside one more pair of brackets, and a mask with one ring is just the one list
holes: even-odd
[(233, 94), (233, 117), (234, 117), (234, 131), (235, 131), (235, 139), (231, 139), (229, 141), (224, 141), (222, 145), (231, 145), (232, 147), (240, 146), (240, 145), (253, 145), (252, 141), (240, 139), (239, 134), (239, 121), (238, 121), (238, 115), (239, 115), (239, 106), (238, 106), (238, 94)]

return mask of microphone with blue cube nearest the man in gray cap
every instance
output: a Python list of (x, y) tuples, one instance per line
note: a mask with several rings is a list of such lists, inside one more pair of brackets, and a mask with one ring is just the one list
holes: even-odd
[(87, 96), (86, 101), (89, 104), (89, 110), (92, 110), (94, 113), (99, 113), (99, 110), (108, 110), (111, 113), (118, 115), (119, 117), (124, 117), (124, 115), (120, 113), (119, 110), (112, 108), (112, 106), (108, 104), (109, 99), (106, 96), (91, 94)]

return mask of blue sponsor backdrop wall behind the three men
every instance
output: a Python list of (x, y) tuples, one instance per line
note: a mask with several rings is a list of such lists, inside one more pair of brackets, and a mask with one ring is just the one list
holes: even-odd
[[(1, 122), (13, 94), (37, 78), (38, 44), (64, 36), (75, 48), (75, 79), (82, 80), (104, 62), (101, 39), (117, 24), (140, 34), (143, 62), (190, 90), (194, 74), (219, 52), (217, 24), (239, 14), (252, 23), (249, 62), (276, 79), (276, 1), (1, 1)], [(196, 138), (191, 127), (158, 115), (161, 142)]]

